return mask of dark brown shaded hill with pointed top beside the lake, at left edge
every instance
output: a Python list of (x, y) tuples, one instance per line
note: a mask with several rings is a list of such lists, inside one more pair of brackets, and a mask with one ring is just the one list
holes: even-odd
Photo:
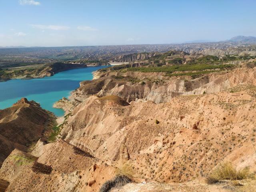
[(43, 137), (53, 126), (54, 119), (53, 114), (26, 98), (0, 110), (0, 164), (14, 148), (27, 150), (30, 144)]

